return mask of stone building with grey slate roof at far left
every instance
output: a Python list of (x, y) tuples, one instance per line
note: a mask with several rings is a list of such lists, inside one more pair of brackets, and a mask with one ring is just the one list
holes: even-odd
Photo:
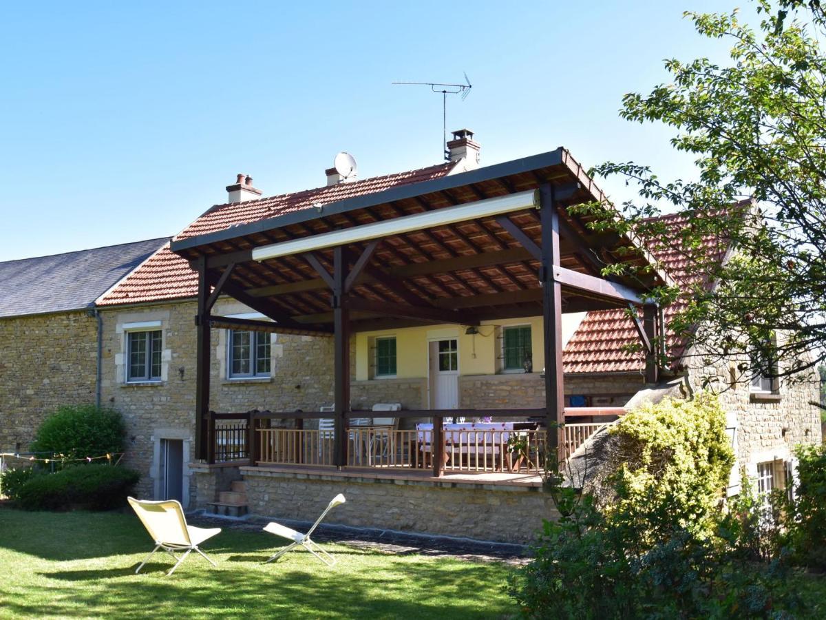
[(95, 299), (166, 239), (0, 263), (0, 451), (26, 451), (47, 413), (97, 398)]

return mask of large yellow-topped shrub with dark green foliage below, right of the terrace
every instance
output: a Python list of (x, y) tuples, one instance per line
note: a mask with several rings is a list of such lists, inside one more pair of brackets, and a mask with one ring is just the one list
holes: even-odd
[[(757, 561), (758, 503), (720, 506), (733, 454), (712, 396), (665, 400), (615, 427), (608, 494), (552, 484), (561, 517), (510, 579), (528, 618), (786, 618), (799, 609), (780, 549)], [(747, 514), (740, 513), (740, 509)]]

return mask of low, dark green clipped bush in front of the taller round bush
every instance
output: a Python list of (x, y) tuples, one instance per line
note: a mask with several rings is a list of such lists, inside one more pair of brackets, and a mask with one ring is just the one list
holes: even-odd
[(27, 510), (109, 510), (126, 503), (139, 479), (138, 472), (125, 467), (73, 465), (28, 480), (18, 491), (17, 501)]

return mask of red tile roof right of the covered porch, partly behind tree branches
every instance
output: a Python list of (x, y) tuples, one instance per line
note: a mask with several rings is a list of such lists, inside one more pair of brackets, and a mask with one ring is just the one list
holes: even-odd
[[(649, 222), (661, 222), (666, 230), (674, 231), (670, 243), (651, 248), (654, 258), (662, 263), (662, 268), (684, 289), (699, 283), (703, 275), (695, 269), (691, 250), (681, 247), (677, 231), (686, 224), (679, 215), (656, 217)], [(719, 258), (725, 250), (719, 238), (706, 237), (705, 250), (714, 249)], [(683, 308), (686, 300), (678, 299), (665, 308), (666, 326), (672, 317)], [(639, 342), (634, 323), (624, 310), (599, 310), (588, 312), (577, 331), (568, 341), (563, 352), (563, 368), (566, 373), (610, 373), (642, 372), (645, 363), (642, 353), (627, 351), (628, 345)], [(684, 341), (673, 332), (667, 333), (667, 351), (672, 360), (679, 360), (684, 348)]]

